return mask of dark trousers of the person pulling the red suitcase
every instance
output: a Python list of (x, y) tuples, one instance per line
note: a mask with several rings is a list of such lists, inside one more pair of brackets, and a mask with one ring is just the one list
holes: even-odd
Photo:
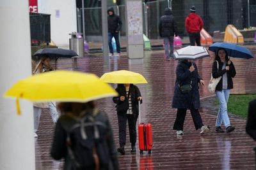
[(136, 143), (136, 122), (138, 117), (128, 114), (117, 115), (118, 128), (119, 128), (119, 144), (120, 146), (125, 145), (126, 141), (126, 122), (128, 120), (130, 142), (132, 145)]

